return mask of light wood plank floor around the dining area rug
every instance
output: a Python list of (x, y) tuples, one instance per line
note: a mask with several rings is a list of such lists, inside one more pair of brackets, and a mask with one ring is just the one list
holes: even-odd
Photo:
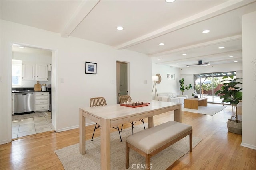
[[(227, 105), (228, 106), (228, 105)], [(241, 113), (241, 108), (239, 108)], [(202, 141), (168, 169), (180, 170), (255, 170), (256, 150), (241, 147), (241, 135), (228, 132), (226, 121), (234, 115), (231, 106), (214, 116), (182, 112), (182, 123), (193, 126), (193, 135)], [(154, 118), (154, 124), (173, 120), (173, 113)], [(125, 127), (130, 128), (130, 124)], [(86, 139), (94, 125), (86, 127)], [(113, 129), (113, 128), (112, 128)], [(114, 129), (113, 129), (114, 131)], [(95, 137), (99, 136), (97, 129)], [(1, 145), (1, 170), (64, 169), (54, 150), (79, 142), (79, 130), (36, 134)], [(168, 162), (167, 162), (168, 163)], [(125, 167), (124, 167), (125, 168)]]

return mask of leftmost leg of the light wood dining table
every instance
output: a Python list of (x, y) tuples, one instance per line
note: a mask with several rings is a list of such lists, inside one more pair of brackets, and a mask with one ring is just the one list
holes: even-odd
[(79, 109), (79, 151), (85, 154), (85, 117), (82, 109)]

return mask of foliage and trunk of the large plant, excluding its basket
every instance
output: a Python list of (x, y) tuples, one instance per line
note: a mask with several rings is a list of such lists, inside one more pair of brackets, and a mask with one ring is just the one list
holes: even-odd
[[(229, 78), (229, 79), (228, 79)], [(221, 82), (223, 86), (221, 90), (218, 90), (215, 95), (222, 95), (220, 99), (223, 99), (222, 102), (230, 103), (235, 106), (236, 108), (236, 121), (238, 120), (237, 117), (237, 104), (240, 100), (243, 99), (243, 92), (241, 90), (243, 88), (239, 87), (238, 84), (242, 84), (241, 82), (236, 82), (236, 80), (242, 80), (242, 78), (235, 78), (234, 76), (224, 76)]]

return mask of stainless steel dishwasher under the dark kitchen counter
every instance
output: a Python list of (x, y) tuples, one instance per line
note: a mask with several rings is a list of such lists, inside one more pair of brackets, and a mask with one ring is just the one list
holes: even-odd
[(14, 93), (14, 115), (34, 111), (34, 92)]

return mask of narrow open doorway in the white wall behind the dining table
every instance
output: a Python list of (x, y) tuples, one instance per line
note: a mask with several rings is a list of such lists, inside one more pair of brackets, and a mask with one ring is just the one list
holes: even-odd
[(128, 95), (128, 63), (116, 62), (116, 103), (119, 103), (119, 96)]

